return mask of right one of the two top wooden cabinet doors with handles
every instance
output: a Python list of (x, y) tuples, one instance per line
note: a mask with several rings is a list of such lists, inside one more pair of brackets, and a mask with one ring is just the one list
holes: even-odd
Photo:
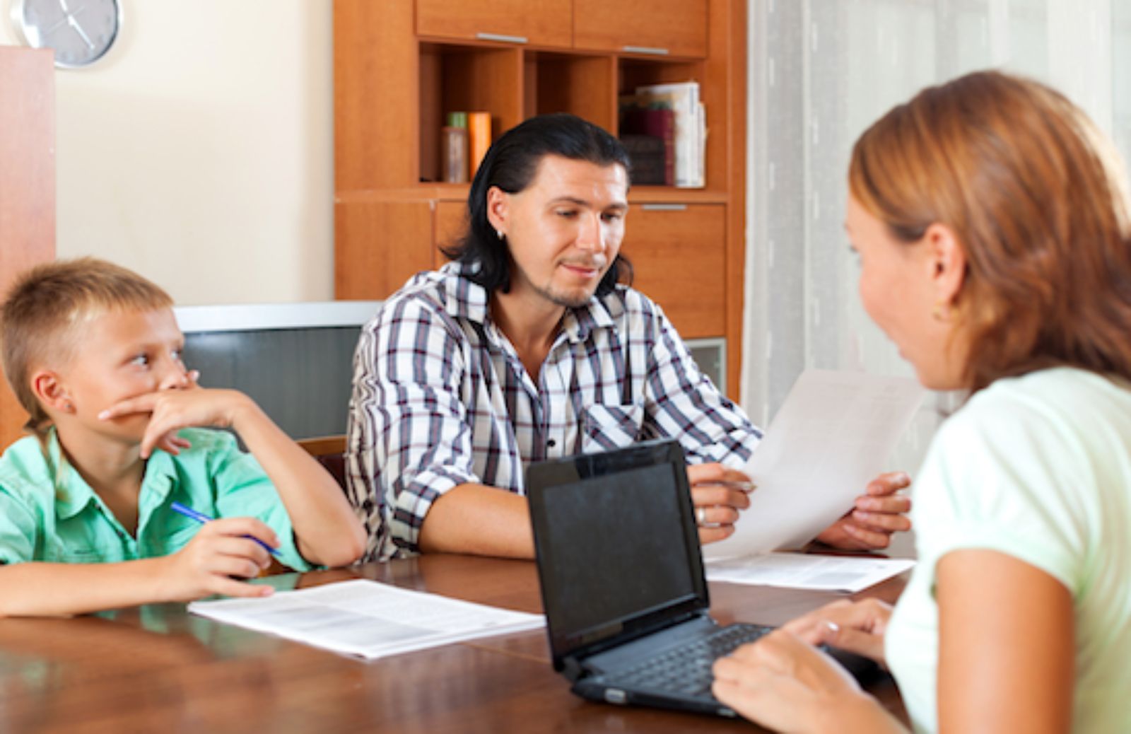
[(575, 0), (573, 45), (707, 55), (707, 0)]

